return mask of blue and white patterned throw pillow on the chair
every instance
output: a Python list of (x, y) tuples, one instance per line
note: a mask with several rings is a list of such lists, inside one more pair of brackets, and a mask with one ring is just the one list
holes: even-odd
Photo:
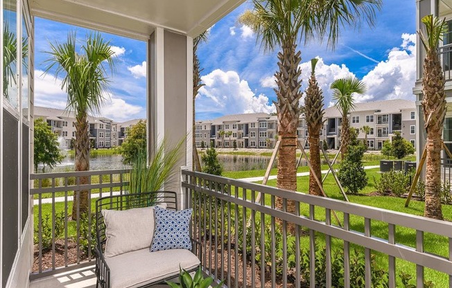
[(193, 209), (182, 211), (155, 207), (155, 231), (150, 251), (191, 250), (190, 219)]

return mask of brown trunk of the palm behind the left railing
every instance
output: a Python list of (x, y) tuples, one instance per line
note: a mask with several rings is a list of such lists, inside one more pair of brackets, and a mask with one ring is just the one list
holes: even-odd
[[(80, 113), (76, 116), (76, 171), (89, 170), (89, 135), (88, 135), (87, 113)], [(76, 184), (89, 184), (89, 177), (78, 177)], [(74, 191), (72, 204), (72, 219), (78, 219), (80, 215), (86, 213), (89, 207), (88, 190)]]

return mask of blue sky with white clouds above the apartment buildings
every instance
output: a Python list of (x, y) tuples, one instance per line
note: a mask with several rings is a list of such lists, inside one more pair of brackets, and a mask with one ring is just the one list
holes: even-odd
[[(210, 29), (206, 43), (198, 55), (204, 69), (206, 86), (196, 99), (196, 118), (205, 120), (225, 114), (271, 112), (276, 100), (272, 75), (277, 70), (277, 51), (264, 53), (256, 35), (247, 26), (237, 23), (238, 15), (250, 3), (244, 3)], [(355, 75), (368, 87), (368, 93), (358, 101), (404, 98), (414, 100), (415, 82), (415, 1), (385, 0), (377, 12), (376, 26), (347, 28), (331, 51), (324, 43), (299, 45), (302, 50), (302, 79), (307, 82), (313, 57), (320, 57), (318, 81), (324, 91), (325, 105), (331, 102), (329, 84), (337, 78)], [(35, 104), (64, 108), (66, 96), (51, 73), (42, 76), (49, 41), (64, 41), (70, 30), (85, 37), (83, 28), (76, 28), (44, 19), (35, 23)], [(102, 114), (116, 121), (146, 117), (146, 43), (104, 33), (118, 55), (116, 73), (112, 78), (111, 100)], [(55, 86), (56, 85), (56, 86)], [(304, 86), (302, 87), (304, 89)]]

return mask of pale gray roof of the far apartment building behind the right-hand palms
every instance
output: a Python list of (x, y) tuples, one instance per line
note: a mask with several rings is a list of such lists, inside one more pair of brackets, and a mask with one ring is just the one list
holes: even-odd
[[(415, 101), (392, 99), (381, 100), (372, 102), (360, 102), (355, 104), (354, 111), (373, 111), (378, 114), (392, 114), (397, 113), (401, 109), (415, 109)], [(340, 117), (340, 112), (335, 106), (325, 109), (325, 118), (337, 118)]]

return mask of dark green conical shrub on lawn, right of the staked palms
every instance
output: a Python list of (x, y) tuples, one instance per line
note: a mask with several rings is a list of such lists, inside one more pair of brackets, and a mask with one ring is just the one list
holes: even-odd
[(350, 145), (344, 161), (339, 166), (338, 179), (342, 186), (347, 188), (347, 192), (352, 194), (367, 186), (367, 174), (361, 162), (364, 152), (365, 146), (362, 143)]

